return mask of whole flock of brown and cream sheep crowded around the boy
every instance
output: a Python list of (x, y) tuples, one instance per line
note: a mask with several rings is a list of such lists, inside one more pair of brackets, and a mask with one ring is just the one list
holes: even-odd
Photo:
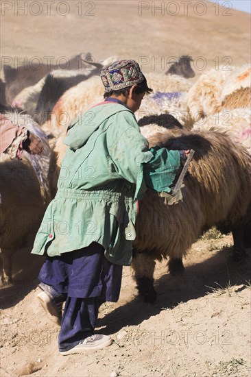
[[(14, 95), (10, 95), (13, 80), (8, 83), (5, 77), (6, 105), (27, 113), (8, 106), (1, 106), (1, 112), (13, 123), (25, 123), (42, 139), (44, 151), (41, 156), (23, 151), (22, 160), (13, 160), (8, 154), (1, 156), (3, 283), (12, 279), (12, 254), (25, 235), (34, 226), (38, 228), (47, 204), (56, 194), (69, 123), (102, 100), (104, 89), (97, 73), (115, 60), (111, 57), (90, 63), (85, 57), (89, 69), (77, 73), (82, 79), (76, 79), (74, 71), (53, 71)], [(11, 70), (5, 70), (7, 75)], [(248, 64), (231, 71), (219, 67), (203, 73), (194, 84), (177, 74), (145, 75), (154, 92), (145, 96), (135, 115), (150, 146), (162, 143), (168, 149), (195, 150), (184, 180), (182, 201), (169, 205), (165, 198), (148, 190), (139, 204), (132, 268), (146, 302), (156, 299), (155, 260), (169, 258), (170, 273), (181, 273), (182, 257), (212, 226), (232, 232), (237, 258), (245, 258), (246, 248), (251, 247), (250, 73)], [(74, 84), (69, 84), (66, 77), (71, 77)], [(59, 84), (55, 86), (53, 80), (57, 78)], [(55, 93), (47, 101), (50, 82), (60, 95)]]

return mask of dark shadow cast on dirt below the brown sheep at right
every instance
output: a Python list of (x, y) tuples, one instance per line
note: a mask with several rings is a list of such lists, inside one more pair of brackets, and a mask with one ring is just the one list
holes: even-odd
[(142, 321), (158, 315), (160, 311), (174, 308), (181, 302), (204, 297), (213, 289), (221, 289), (229, 285), (250, 284), (250, 257), (246, 263), (238, 264), (232, 260), (232, 249), (223, 249), (202, 263), (191, 265), (180, 277), (172, 277), (169, 273), (155, 281), (158, 297), (154, 304), (145, 304), (136, 296), (132, 301), (119, 306), (104, 318), (99, 319), (97, 332), (114, 334), (124, 326), (136, 326)]

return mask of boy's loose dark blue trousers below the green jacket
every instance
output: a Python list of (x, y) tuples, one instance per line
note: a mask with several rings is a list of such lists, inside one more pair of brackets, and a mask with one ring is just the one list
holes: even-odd
[(93, 242), (81, 250), (47, 256), (38, 278), (51, 287), (55, 301), (66, 300), (58, 343), (60, 351), (67, 351), (93, 335), (102, 302), (119, 300), (122, 266), (110, 263), (104, 247)]

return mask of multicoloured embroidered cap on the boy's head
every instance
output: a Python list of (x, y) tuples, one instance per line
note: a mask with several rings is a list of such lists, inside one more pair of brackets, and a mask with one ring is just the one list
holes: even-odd
[(119, 90), (143, 82), (144, 76), (135, 60), (120, 60), (101, 70), (105, 91)]

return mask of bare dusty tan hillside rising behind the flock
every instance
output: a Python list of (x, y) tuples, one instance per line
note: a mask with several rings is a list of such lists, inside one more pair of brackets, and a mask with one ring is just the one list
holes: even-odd
[(23, 57), (27, 64), (35, 57), (56, 64), (59, 57), (91, 51), (96, 60), (131, 57), (145, 71), (160, 71), (169, 58), (188, 53), (200, 74), (208, 66), (250, 60), (250, 16), (208, 1), (24, 3), (1, 2), (2, 64), (9, 59), (16, 66)]

